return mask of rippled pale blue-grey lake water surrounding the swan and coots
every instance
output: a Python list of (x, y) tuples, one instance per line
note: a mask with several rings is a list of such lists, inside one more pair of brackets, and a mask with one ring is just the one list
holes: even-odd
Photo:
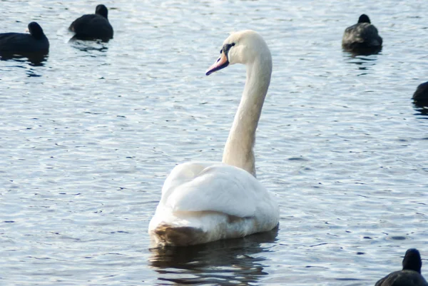
[[(409, 247), (427, 265), (426, 2), (184, 2), (104, 1), (107, 44), (68, 42), (99, 2), (0, 2), (0, 32), (37, 21), (51, 43), (0, 61), (0, 285), (374, 285)], [(384, 48), (353, 57), (362, 13)], [(255, 154), (280, 227), (150, 249), (170, 170), (221, 160), (245, 68), (205, 70), (242, 29), (272, 51)]]

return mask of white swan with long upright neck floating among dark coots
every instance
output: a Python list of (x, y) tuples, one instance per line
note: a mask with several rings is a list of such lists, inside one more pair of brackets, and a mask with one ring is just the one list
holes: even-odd
[(278, 224), (277, 202), (255, 178), (255, 130), (272, 73), (269, 48), (258, 33), (247, 30), (230, 35), (206, 74), (234, 63), (247, 66), (247, 80), (223, 163), (190, 162), (173, 169), (148, 226), (157, 245), (240, 238)]

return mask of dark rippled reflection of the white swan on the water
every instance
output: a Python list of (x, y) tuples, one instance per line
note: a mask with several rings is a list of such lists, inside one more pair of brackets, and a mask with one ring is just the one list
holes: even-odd
[[(267, 275), (263, 252), (270, 252), (278, 227), (245, 238), (218, 240), (191, 247), (152, 248), (149, 265), (158, 272), (159, 285), (248, 285)], [(169, 284), (169, 283), (168, 283)]]

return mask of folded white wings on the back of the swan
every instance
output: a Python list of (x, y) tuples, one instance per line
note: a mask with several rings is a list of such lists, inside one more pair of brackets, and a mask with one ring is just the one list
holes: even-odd
[(185, 163), (165, 180), (161, 204), (180, 211), (214, 211), (241, 218), (255, 215), (270, 194), (247, 171), (222, 163)]

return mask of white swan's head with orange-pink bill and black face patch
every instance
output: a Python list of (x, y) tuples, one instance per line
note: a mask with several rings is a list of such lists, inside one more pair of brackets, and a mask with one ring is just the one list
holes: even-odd
[(255, 31), (239, 31), (228, 36), (223, 42), (220, 50), (220, 57), (206, 71), (209, 76), (215, 71), (219, 71), (226, 66), (235, 63), (250, 64), (260, 57), (270, 58), (270, 51), (265, 40)]

